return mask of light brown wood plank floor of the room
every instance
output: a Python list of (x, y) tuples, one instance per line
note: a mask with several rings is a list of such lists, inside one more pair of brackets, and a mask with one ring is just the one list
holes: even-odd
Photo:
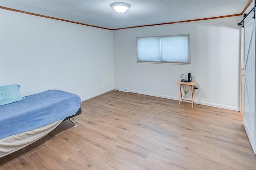
[(113, 90), (1, 170), (255, 170), (240, 112)]

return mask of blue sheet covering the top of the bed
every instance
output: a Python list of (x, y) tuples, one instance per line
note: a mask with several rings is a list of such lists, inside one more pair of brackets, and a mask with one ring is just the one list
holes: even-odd
[(76, 114), (81, 99), (60, 91), (26, 96), (24, 100), (0, 106), (0, 139), (45, 126)]

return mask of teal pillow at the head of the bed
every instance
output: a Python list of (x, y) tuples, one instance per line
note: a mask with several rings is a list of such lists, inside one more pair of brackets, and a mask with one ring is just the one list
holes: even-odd
[(20, 85), (12, 84), (0, 87), (0, 106), (25, 99), (20, 96)]

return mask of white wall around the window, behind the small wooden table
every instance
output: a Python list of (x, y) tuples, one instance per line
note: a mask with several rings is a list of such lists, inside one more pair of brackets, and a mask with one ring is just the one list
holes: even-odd
[[(115, 30), (115, 88), (178, 100), (176, 82), (190, 72), (200, 88), (196, 103), (239, 110), (240, 20), (237, 16)], [(191, 65), (136, 62), (136, 37), (174, 34), (190, 34)]]

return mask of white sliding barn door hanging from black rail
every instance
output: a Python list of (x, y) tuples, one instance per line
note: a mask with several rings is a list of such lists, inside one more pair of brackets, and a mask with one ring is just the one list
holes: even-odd
[(256, 154), (255, 144), (255, 19), (251, 12), (244, 19), (243, 124)]

